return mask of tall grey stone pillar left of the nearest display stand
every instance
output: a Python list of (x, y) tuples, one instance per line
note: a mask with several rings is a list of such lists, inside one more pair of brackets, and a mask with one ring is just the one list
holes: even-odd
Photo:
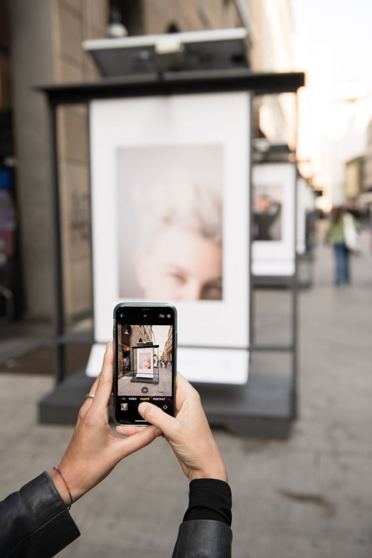
[(13, 109), (17, 197), (27, 314), (50, 317), (52, 285), (49, 142), (45, 100), (35, 86), (51, 83), (51, 8), (48, 0), (12, 0)]

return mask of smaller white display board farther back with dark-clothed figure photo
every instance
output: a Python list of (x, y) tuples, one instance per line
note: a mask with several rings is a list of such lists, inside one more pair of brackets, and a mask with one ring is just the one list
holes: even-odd
[(287, 276), (294, 273), (294, 163), (254, 165), (252, 273)]

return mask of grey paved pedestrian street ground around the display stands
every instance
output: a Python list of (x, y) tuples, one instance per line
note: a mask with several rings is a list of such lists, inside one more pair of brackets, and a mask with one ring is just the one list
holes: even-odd
[[(300, 417), (291, 438), (215, 431), (233, 490), (235, 558), (372, 556), (372, 259), (366, 235), (364, 243), (364, 256), (352, 261), (349, 287), (332, 285), (331, 249), (317, 248), (315, 284), (300, 295)], [(260, 311), (269, 315), (273, 307), (268, 293)], [(51, 387), (49, 377), (0, 374), (0, 498), (51, 469), (69, 441), (71, 427), (37, 425), (36, 402)], [(171, 556), (187, 492), (167, 443), (156, 440), (74, 504), (82, 536), (60, 556)]]

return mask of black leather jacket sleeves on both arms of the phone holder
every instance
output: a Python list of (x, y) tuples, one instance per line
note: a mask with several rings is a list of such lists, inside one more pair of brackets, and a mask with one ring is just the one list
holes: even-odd
[[(214, 483), (221, 483), (215, 481)], [(205, 490), (219, 486), (192, 481), (190, 506), (183, 521), (172, 558), (231, 558), (231, 529), (223, 521), (202, 519), (214, 509), (224, 519), (226, 498), (207, 497)], [(225, 484), (225, 483), (223, 483)], [(228, 485), (226, 487), (229, 489)], [(196, 492), (196, 495), (192, 494)], [(218, 492), (218, 490), (217, 490)], [(225, 492), (226, 489), (222, 490)], [(221, 514), (222, 513), (222, 514)], [(46, 472), (0, 502), (0, 558), (50, 558), (78, 538), (80, 532)]]

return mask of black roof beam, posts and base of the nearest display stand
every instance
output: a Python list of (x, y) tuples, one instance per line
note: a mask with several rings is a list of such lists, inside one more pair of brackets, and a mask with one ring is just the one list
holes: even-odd
[[(78, 415), (81, 398), (91, 379), (80, 371), (65, 379), (65, 344), (81, 343), (84, 339), (64, 334), (62, 253), (60, 230), (59, 166), (57, 154), (57, 119), (59, 105), (89, 103), (94, 99), (148, 97), (192, 93), (249, 91), (253, 94), (296, 93), (305, 85), (305, 74), (252, 73), (244, 70), (209, 70), (165, 72), (127, 78), (105, 78), (93, 83), (45, 85), (37, 89), (47, 97), (50, 131), (50, 170), (54, 223), (55, 264), (55, 378), (54, 392), (40, 402), (41, 422), (73, 423)], [(247, 123), (248, 124), (248, 123)], [(252, 193), (251, 193), (252, 195)], [(296, 205), (296, 203), (295, 203)], [(295, 225), (296, 230), (296, 225)], [(295, 240), (296, 241), (296, 240)], [(296, 264), (297, 270), (297, 264)], [(297, 320), (297, 271), (292, 278), (293, 324)], [(252, 275), (251, 275), (252, 278)], [(251, 306), (252, 307), (252, 306)], [(252, 320), (252, 315), (251, 318)], [(251, 328), (252, 331), (252, 328)], [(251, 341), (254, 341), (253, 339)], [(259, 346), (252, 350), (281, 350), (292, 353), (291, 378), (276, 374), (251, 374), (250, 385), (205, 387), (202, 398), (211, 424), (225, 425), (236, 433), (287, 437), (291, 420), (296, 416), (297, 334), (294, 328), (288, 347)], [(89, 382), (89, 383), (88, 383)], [(202, 390), (202, 388), (201, 388)], [(82, 395), (83, 394), (83, 395)], [(226, 395), (227, 394), (227, 395)]]

